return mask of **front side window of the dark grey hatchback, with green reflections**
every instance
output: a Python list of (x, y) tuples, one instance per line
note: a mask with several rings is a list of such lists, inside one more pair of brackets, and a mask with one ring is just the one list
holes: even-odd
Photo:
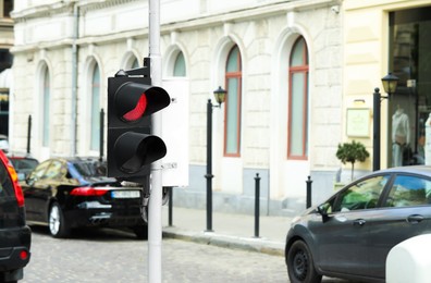
[(373, 176), (340, 192), (333, 211), (374, 208), (390, 175)]

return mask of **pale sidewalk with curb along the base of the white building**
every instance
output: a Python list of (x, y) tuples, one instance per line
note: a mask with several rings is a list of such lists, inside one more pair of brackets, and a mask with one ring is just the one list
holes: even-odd
[(255, 216), (212, 212), (212, 232), (207, 232), (207, 211), (173, 207), (169, 226), (169, 207), (162, 207), (163, 237), (181, 238), (208, 245), (284, 256), (291, 218), (259, 218), (259, 237), (255, 237)]

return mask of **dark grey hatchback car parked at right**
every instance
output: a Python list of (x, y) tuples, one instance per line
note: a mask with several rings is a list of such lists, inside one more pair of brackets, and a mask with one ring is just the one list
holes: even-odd
[(389, 251), (431, 233), (431, 167), (377, 171), (293, 220), (285, 261), (291, 282), (322, 275), (385, 281)]

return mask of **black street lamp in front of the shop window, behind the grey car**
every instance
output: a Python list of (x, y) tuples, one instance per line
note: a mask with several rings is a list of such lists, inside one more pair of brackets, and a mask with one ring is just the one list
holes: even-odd
[(399, 78), (389, 73), (382, 77), (383, 89), (387, 96), (381, 96), (380, 89), (374, 88), (373, 94), (373, 140), (372, 140), (372, 171), (380, 170), (380, 102), (390, 98), (395, 93)]

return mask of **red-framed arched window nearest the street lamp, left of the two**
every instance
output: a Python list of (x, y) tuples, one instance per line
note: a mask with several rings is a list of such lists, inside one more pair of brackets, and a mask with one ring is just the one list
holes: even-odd
[(226, 62), (226, 102), (224, 119), (224, 156), (238, 157), (241, 149), (241, 53), (237, 46), (229, 52)]

